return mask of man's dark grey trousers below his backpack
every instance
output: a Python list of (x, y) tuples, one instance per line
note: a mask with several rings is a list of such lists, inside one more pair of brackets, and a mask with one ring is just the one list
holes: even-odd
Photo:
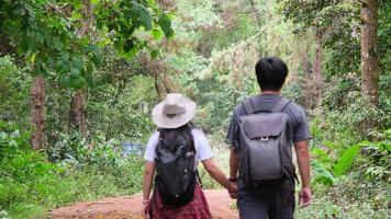
[(292, 219), (294, 181), (281, 185), (246, 187), (237, 184), (237, 208), (241, 219)]

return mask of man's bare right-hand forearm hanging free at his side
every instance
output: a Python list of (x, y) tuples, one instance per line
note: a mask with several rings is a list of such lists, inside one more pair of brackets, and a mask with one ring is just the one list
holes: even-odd
[(294, 142), (295, 154), (298, 158), (299, 172), (301, 176), (302, 187), (299, 193), (299, 204), (301, 207), (306, 207), (311, 204), (312, 194), (310, 188), (311, 182), (311, 165), (309, 141), (302, 140)]

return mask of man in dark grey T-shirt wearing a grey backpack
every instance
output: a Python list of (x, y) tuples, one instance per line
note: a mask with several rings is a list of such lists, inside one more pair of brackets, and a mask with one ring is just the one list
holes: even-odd
[(237, 182), (241, 219), (293, 218), (292, 145), (302, 182), (299, 204), (305, 207), (312, 199), (308, 119), (300, 105), (280, 94), (288, 76), (280, 58), (262, 58), (255, 70), (261, 93), (235, 107), (226, 136), (230, 181)]

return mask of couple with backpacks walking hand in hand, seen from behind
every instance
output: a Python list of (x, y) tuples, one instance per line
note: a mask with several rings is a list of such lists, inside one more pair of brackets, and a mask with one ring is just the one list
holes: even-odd
[(171, 93), (154, 107), (158, 131), (149, 138), (144, 155), (146, 217), (212, 218), (197, 177), (201, 161), (230, 196), (237, 198), (241, 219), (293, 218), (297, 177), (292, 145), (302, 182), (299, 204), (310, 205), (308, 119), (301, 106), (280, 95), (288, 68), (280, 58), (268, 57), (260, 59), (255, 70), (261, 93), (235, 107), (226, 136), (232, 146), (228, 178), (214, 163), (204, 134), (190, 122), (196, 114), (194, 102)]

